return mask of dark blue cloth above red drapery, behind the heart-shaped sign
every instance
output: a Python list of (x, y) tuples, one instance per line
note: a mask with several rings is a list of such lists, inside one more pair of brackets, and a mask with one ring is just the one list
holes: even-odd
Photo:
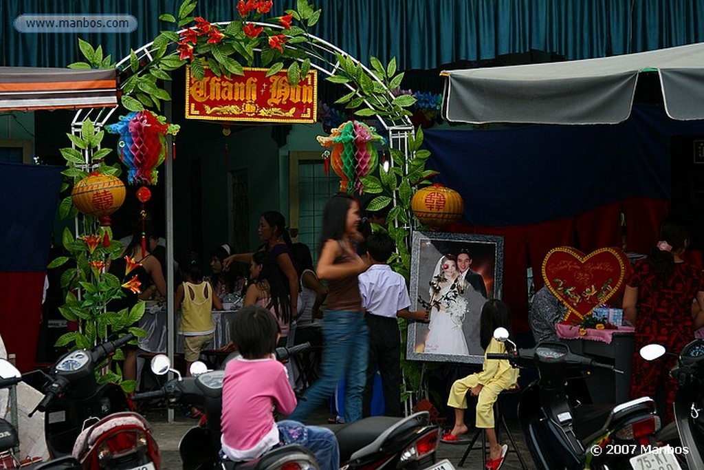
[(638, 105), (618, 125), (431, 129), (424, 145), (438, 182), (462, 194), (463, 222), (515, 226), (629, 198), (670, 200), (670, 139), (676, 135), (704, 135), (704, 122), (674, 121), (660, 106)]

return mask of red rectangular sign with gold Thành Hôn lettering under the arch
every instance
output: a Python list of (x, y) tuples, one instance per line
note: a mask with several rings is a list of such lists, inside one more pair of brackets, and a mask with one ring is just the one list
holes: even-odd
[(310, 70), (292, 87), (287, 70), (266, 76), (266, 68), (244, 68), (244, 75), (216, 76), (206, 68), (203, 80), (186, 68), (186, 118), (315, 123), (318, 73)]

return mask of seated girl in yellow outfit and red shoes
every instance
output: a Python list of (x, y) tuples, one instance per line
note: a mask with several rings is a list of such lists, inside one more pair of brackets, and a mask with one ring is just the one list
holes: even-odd
[(490, 460), (486, 462), (489, 469), (498, 469), (503, 463), (507, 446), (500, 445), (494, 429), (494, 402), (502, 390), (508, 390), (516, 385), (518, 369), (511, 367), (506, 359), (486, 359), (488, 353), (505, 353), (503, 342), (494, 339), (494, 330), (503, 326), (510, 331), (510, 310), (501, 300), (488, 300), (482, 307), (479, 317), (479, 342), (484, 348), (484, 368), (481, 372), (460, 378), (453, 383), (447, 404), (455, 408), (455, 427), (447, 433), (445, 442), (456, 442), (458, 436), (467, 432), (465, 425), (465, 409), (470, 392), (477, 397), (477, 428), (484, 428), (486, 439), (490, 446)]

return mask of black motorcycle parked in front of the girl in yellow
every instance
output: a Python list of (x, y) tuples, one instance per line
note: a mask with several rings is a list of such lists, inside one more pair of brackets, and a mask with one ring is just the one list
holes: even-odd
[[(660, 419), (655, 402), (643, 397), (622, 404), (572, 403), (565, 390), (570, 378), (589, 376), (593, 368), (617, 371), (589, 357), (574, 354), (560, 342), (541, 342), (518, 350), (505, 328), (494, 338), (507, 353), (487, 359), (508, 359), (514, 367), (536, 369), (539, 378), (526, 388), (518, 404), (518, 419), (527, 446), (539, 469), (678, 469), (674, 457), (658, 453), (655, 432)], [(659, 460), (665, 462), (660, 466)], [(672, 466), (668, 467), (667, 464)]]

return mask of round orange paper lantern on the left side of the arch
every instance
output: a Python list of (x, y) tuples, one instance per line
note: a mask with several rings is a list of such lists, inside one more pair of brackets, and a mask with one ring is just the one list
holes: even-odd
[(93, 172), (76, 183), (71, 200), (82, 214), (98, 217), (101, 225), (110, 225), (110, 214), (125, 202), (125, 184), (115, 176)]

